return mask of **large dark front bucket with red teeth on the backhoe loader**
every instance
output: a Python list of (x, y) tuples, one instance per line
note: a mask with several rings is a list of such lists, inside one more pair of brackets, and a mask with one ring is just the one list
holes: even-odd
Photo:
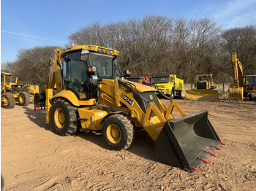
[(208, 162), (206, 158), (214, 156), (221, 143), (207, 116), (201, 111), (166, 122), (154, 143), (159, 162), (186, 171)]

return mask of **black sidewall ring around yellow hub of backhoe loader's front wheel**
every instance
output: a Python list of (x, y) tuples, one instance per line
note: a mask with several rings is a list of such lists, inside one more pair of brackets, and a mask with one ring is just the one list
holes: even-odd
[[(117, 125), (118, 128), (121, 131), (121, 140), (118, 143), (116, 143), (116, 144), (113, 144), (108, 139), (108, 136), (107, 136), (107, 128), (111, 124)], [(110, 149), (113, 149), (113, 150), (124, 149), (124, 147), (127, 144), (127, 129), (125, 128), (124, 123), (121, 120), (119, 120), (117, 117), (113, 116), (113, 115), (108, 117), (108, 119), (105, 120), (105, 122), (102, 125), (102, 138), (104, 139), (105, 143), (108, 145), (108, 147)]]

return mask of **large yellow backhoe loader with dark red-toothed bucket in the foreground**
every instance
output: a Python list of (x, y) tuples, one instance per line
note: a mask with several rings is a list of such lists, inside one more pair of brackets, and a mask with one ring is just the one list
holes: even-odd
[[(208, 112), (187, 115), (172, 99), (166, 107), (154, 87), (121, 76), (119, 55), (118, 50), (90, 44), (54, 48), (48, 84), (35, 95), (34, 109), (46, 107), (46, 122), (59, 136), (101, 131), (106, 146), (116, 151), (128, 149), (135, 129), (144, 129), (154, 141), (157, 160), (199, 171), (224, 144)], [(174, 119), (173, 109), (180, 118)]]

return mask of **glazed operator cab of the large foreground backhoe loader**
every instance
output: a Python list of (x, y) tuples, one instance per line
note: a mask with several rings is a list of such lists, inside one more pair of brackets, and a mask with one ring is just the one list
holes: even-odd
[(117, 55), (105, 52), (83, 48), (65, 52), (62, 59), (64, 86), (80, 100), (97, 98), (97, 87), (102, 79), (121, 77)]

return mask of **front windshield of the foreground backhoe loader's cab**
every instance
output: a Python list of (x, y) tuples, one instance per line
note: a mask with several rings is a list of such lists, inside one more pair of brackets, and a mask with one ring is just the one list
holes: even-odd
[[(112, 62), (114, 69), (112, 67)], [(113, 79), (116, 77), (121, 77), (118, 61), (113, 55), (103, 55), (100, 53), (90, 52), (89, 66), (97, 67), (97, 71), (94, 74), (94, 79), (96, 77), (99, 77), (99, 79)]]

